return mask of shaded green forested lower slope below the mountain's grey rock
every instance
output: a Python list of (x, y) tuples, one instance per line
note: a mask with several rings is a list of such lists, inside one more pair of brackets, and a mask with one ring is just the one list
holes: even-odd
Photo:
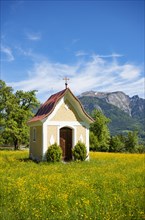
[(143, 124), (118, 107), (96, 97), (83, 96), (79, 97), (79, 100), (88, 114), (91, 114), (94, 109), (100, 109), (105, 116), (111, 119), (109, 124), (111, 135), (138, 130), (139, 136), (144, 138)]

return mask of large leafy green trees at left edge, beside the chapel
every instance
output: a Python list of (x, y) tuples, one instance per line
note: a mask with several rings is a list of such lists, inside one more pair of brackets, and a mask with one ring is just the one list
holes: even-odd
[(28, 144), (29, 127), (27, 121), (32, 110), (39, 105), (36, 91), (13, 92), (12, 87), (0, 80), (0, 143), (13, 144), (15, 150), (20, 144)]

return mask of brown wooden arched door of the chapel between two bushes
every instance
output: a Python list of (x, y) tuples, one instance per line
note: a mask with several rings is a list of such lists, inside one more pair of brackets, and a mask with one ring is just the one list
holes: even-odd
[(63, 127), (60, 129), (60, 146), (62, 148), (63, 160), (72, 159), (72, 129)]

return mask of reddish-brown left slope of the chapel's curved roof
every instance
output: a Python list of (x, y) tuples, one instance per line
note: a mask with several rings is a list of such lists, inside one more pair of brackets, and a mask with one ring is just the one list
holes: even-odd
[(64, 96), (67, 89), (64, 89), (52, 96), (38, 109), (35, 116), (29, 122), (40, 121), (52, 113), (57, 102)]

